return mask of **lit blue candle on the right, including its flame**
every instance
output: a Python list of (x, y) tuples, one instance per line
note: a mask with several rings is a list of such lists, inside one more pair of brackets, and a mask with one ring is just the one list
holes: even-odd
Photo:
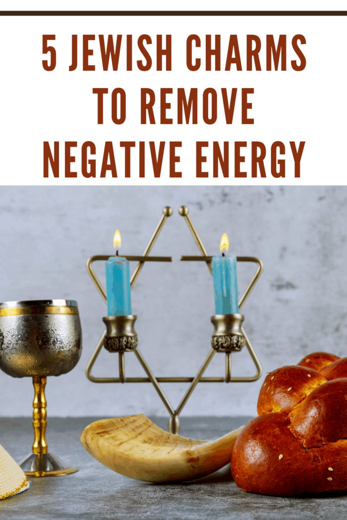
[[(223, 245), (226, 235), (221, 240), (221, 249), (227, 247)], [(213, 287), (214, 303), (216, 314), (238, 313), (238, 290), (237, 290), (237, 271), (235, 256), (214, 256), (212, 258), (213, 268)]]

